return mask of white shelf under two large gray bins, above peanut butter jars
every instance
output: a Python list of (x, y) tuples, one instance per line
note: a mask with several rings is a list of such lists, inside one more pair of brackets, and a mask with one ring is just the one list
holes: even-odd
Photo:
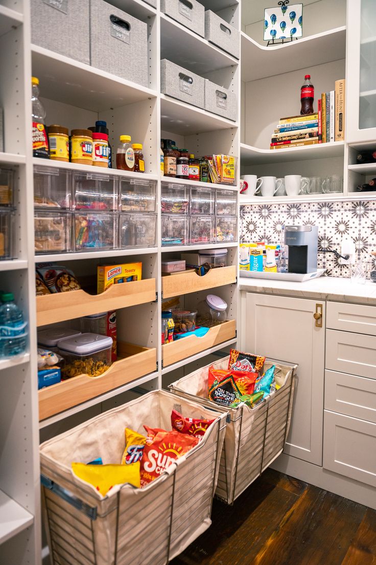
[(37, 45), (32, 45), (32, 72), (43, 85), (44, 98), (94, 112), (157, 96), (154, 90)]

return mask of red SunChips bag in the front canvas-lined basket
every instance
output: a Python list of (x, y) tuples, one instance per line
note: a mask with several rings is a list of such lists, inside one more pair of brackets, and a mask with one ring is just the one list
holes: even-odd
[(166, 432), (144, 425), (147, 433), (144, 455), (141, 459), (141, 487), (146, 486), (162, 475), (176, 459), (187, 453), (200, 441), (176, 430)]

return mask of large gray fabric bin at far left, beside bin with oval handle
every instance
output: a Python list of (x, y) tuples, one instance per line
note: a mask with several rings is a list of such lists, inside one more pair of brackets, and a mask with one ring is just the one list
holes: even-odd
[(89, 35), (88, 0), (31, 0), (33, 44), (89, 65)]

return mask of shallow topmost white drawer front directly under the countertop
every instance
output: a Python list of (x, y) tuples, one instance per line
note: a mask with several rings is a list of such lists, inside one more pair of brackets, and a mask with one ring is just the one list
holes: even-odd
[(376, 336), (376, 306), (327, 302), (326, 327)]

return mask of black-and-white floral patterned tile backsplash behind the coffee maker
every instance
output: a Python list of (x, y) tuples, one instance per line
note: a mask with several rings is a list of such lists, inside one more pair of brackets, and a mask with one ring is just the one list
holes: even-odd
[[(376, 251), (376, 199), (299, 202), (240, 206), (241, 242), (279, 242), (282, 225), (318, 225), (318, 249), (341, 252), (345, 236), (355, 242), (358, 257)], [(349, 277), (349, 267), (332, 254), (319, 253), (318, 267), (326, 276)], [(372, 260), (376, 268), (376, 259)]]

